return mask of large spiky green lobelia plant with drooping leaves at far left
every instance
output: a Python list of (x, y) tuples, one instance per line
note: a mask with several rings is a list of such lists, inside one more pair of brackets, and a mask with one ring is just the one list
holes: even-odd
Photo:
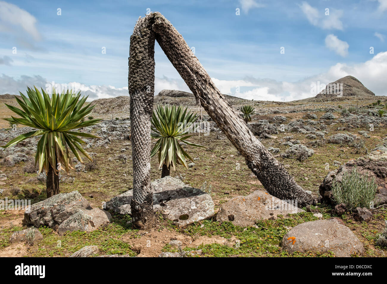
[(1, 147), (7, 148), (29, 137), (41, 136), (36, 150), (35, 165), (39, 162), (39, 173), (43, 169), (46, 171), (47, 197), (51, 197), (59, 193), (59, 170), (63, 169), (68, 172), (69, 168), (72, 168), (70, 151), (81, 163), (83, 161), (78, 151), (92, 161), (86, 150), (80, 146), (86, 144), (86, 142), (77, 136), (99, 137), (72, 130), (98, 124), (101, 119), (84, 121), (84, 118), (90, 114), (95, 105), (91, 106), (91, 103), (89, 103), (83, 106), (88, 96), (80, 98), (80, 92), (73, 94), (72, 90), (70, 92), (67, 90), (66, 94), (64, 92), (56, 94), (55, 89), (53, 89), (50, 97), (42, 88), (42, 94), (36, 87), (34, 89), (28, 88), (28, 97), (22, 93), (20, 93), (21, 99), (15, 96), (22, 109), (5, 104), (11, 111), (21, 117), (11, 116), (11, 118), (5, 118), (6, 121), (36, 128), (37, 130), (21, 134)]

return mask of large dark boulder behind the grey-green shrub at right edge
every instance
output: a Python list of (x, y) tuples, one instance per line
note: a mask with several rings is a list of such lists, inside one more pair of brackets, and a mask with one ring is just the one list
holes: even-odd
[(387, 204), (387, 148), (385, 147), (377, 147), (369, 155), (349, 161), (329, 172), (319, 188), (321, 201), (335, 204), (332, 183), (334, 180), (341, 182), (344, 173), (352, 172), (353, 167), (356, 167), (359, 173), (368, 175), (370, 180), (375, 179), (375, 183), (378, 185), (375, 204)]

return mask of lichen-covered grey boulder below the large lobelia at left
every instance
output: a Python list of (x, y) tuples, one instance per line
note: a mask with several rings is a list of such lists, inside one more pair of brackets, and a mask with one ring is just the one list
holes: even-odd
[(31, 205), (30, 210), (24, 213), (22, 223), (26, 226), (53, 228), (81, 209), (92, 208), (79, 192), (60, 193)]

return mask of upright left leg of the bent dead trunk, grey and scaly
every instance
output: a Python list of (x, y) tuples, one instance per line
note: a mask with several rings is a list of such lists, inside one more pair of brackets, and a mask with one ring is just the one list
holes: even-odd
[(155, 223), (151, 191), (151, 116), (154, 95), (154, 33), (150, 17), (139, 19), (130, 37), (128, 87), (133, 157), (133, 223)]

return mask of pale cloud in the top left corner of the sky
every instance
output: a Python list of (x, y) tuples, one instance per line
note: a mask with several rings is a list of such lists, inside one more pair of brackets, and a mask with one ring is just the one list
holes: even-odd
[(0, 1), (0, 27), (1, 30), (7, 27), (21, 27), (36, 41), (41, 39), (41, 35), (36, 28), (36, 18), (26, 10), (5, 1)]

